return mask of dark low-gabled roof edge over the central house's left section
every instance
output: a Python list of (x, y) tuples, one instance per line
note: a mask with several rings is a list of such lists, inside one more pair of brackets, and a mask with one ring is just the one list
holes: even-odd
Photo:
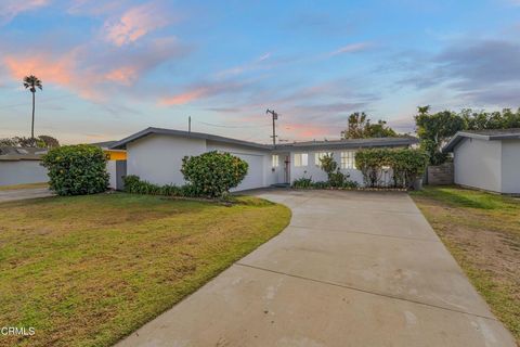
[(266, 144), (260, 144), (260, 143), (255, 143), (255, 142), (249, 142), (249, 141), (243, 141), (243, 140), (236, 140), (236, 139), (230, 139), (230, 138), (224, 138), (224, 137), (219, 137), (216, 134), (209, 134), (209, 133), (204, 133), (204, 132), (188, 132), (188, 131), (182, 131), (182, 130), (173, 130), (173, 129), (162, 129), (162, 128), (146, 128), (144, 130), (141, 130), (139, 132), (135, 132), (134, 134), (129, 136), (128, 138), (125, 138), (120, 141), (117, 141), (113, 145), (110, 145), (110, 149), (126, 149), (127, 144), (129, 142), (139, 140), (141, 138), (144, 138), (148, 134), (167, 134), (167, 136), (176, 136), (176, 137), (182, 137), (182, 138), (190, 138), (190, 139), (203, 139), (203, 140), (210, 140), (210, 141), (217, 141), (217, 142), (224, 142), (224, 143), (231, 143), (231, 144), (238, 144), (238, 145), (244, 145), (248, 147), (253, 147), (258, 150), (271, 150), (271, 146)]

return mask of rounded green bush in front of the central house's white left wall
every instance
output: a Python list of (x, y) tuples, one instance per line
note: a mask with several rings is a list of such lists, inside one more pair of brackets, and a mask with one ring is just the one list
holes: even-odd
[(246, 177), (247, 162), (217, 151), (182, 159), (181, 172), (197, 195), (221, 197)]

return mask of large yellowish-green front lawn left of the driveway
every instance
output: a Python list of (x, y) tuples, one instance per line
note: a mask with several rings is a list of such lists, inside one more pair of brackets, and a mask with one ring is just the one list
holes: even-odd
[(123, 193), (0, 204), (2, 346), (110, 346), (281, 232), (290, 210)]

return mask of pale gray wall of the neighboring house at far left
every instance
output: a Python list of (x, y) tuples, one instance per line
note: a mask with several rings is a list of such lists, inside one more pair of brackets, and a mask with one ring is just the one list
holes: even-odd
[(39, 183), (49, 181), (40, 160), (1, 160), (0, 185)]

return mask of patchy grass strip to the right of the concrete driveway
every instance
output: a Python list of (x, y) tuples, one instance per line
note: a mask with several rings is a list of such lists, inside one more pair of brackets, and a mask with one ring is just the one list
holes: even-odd
[(452, 187), (411, 195), (520, 346), (520, 200)]

